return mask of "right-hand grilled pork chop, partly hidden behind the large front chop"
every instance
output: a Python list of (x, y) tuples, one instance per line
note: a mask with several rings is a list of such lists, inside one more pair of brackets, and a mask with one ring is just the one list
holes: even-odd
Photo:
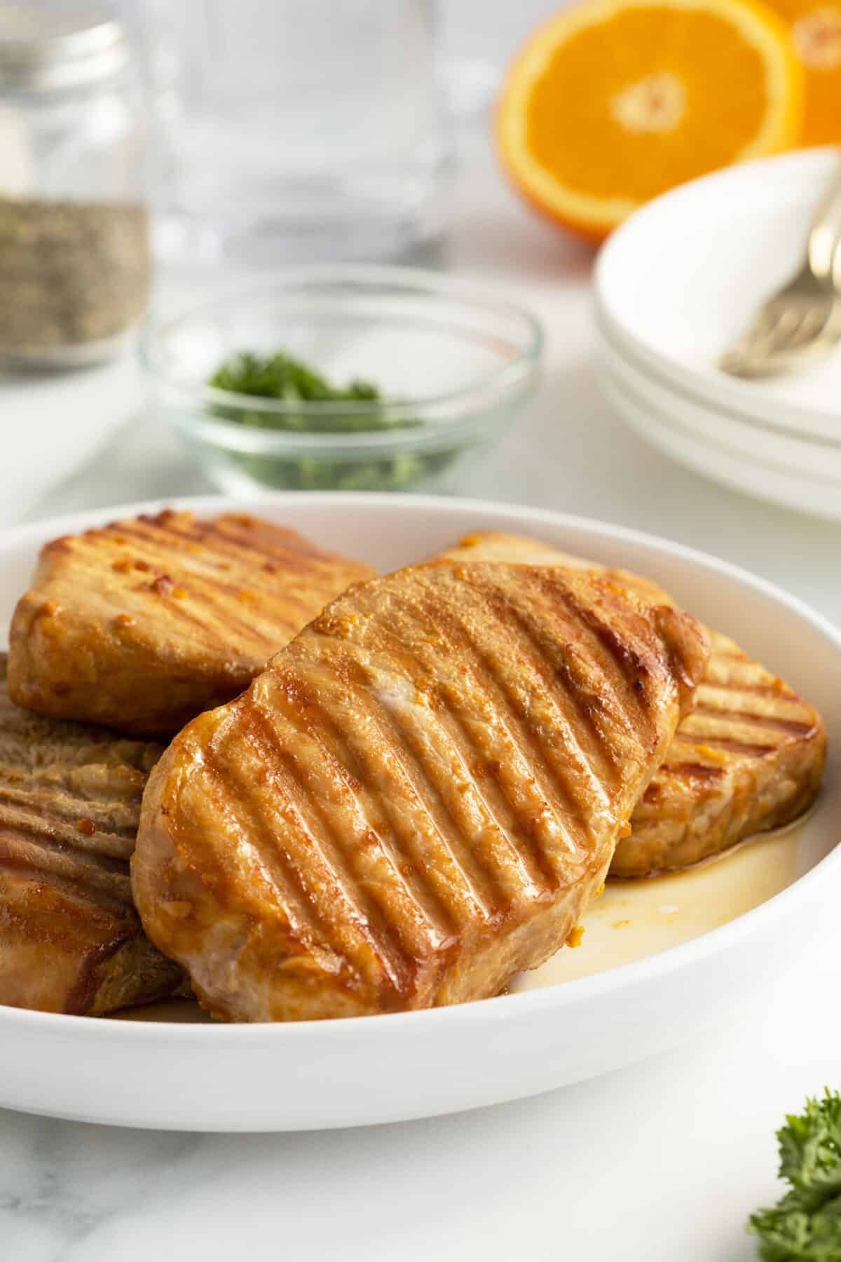
[[(468, 535), (435, 559), (588, 567), (648, 599), (668, 602), (648, 579), (519, 535)], [(716, 631), (710, 639), (695, 708), (634, 810), (612, 876), (688, 867), (791, 823), (815, 800), (826, 756), (821, 716), (733, 640)]]

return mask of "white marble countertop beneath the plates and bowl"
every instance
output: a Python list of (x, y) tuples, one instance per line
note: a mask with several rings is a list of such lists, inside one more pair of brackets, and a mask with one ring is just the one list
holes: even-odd
[[(841, 622), (841, 526), (721, 490), (624, 429), (591, 363), (589, 251), (531, 218), (487, 155), (460, 175), (444, 261), (528, 303), (548, 338), (538, 399), (464, 493), (668, 535)], [(209, 490), (144, 418), (130, 361), (3, 381), (0, 418), (0, 525)], [(774, 1128), (806, 1093), (841, 1083), (836, 936), (827, 924), (807, 958), (793, 943), (770, 997), (688, 1049), (459, 1117), (199, 1137), (0, 1112), (0, 1257), (746, 1262), (744, 1220), (777, 1195)], [(73, 1066), (57, 1060), (55, 1073)]]

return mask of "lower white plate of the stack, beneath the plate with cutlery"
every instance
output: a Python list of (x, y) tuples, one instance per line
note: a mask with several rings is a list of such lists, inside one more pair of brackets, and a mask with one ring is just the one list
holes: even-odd
[(741, 493), (841, 520), (841, 444), (784, 434), (664, 384), (596, 334), (599, 380), (619, 415), (659, 451)]

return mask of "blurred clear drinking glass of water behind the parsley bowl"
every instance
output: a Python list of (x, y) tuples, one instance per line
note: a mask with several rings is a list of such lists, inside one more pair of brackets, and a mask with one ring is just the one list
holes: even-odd
[(432, 0), (139, 0), (173, 257), (396, 256), (441, 222)]

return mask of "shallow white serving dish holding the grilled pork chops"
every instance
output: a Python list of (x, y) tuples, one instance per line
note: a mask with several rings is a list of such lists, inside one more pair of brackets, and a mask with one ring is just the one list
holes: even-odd
[[(841, 751), (841, 634), (793, 597), (712, 557), (604, 522), (469, 500), (314, 493), (183, 506), (258, 511), (382, 569), (460, 534), (496, 529), (639, 570), (815, 698)], [(3, 622), (45, 540), (158, 507), (132, 505), (0, 535)], [(798, 829), (793, 883), (680, 946), (562, 984), (551, 984), (550, 962), (542, 988), (344, 1021), (177, 1025), (0, 1008), (0, 1106), (166, 1129), (361, 1126), (531, 1095), (675, 1046), (735, 1013), (808, 949), (841, 883), (841, 849), (833, 848), (840, 770), (832, 752), (818, 809)]]

